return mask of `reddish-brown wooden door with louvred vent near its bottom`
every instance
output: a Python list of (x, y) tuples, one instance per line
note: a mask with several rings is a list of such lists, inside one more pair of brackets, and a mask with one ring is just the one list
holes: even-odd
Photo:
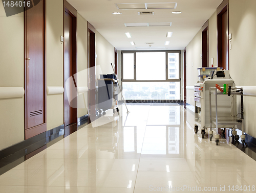
[(45, 1), (24, 14), (25, 139), (46, 131)]

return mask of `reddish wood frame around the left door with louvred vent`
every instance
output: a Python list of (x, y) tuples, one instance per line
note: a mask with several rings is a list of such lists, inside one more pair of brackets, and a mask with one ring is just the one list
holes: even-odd
[[(27, 0), (26, 0), (26, 4), (27, 4)], [(24, 127), (25, 127), (25, 140), (36, 136), (40, 133), (43, 133), (47, 130), (47, 126), (46, 126), (46, 117), (47, 117), (47, 113), (46, 113), (46, 1), (43, 2), (44, 4), (44, 123), (32, 128), (28, 128), (28, 101), (27, 101), (27, 97), (28, 97), (28, 93), (27, 93), (27, 76), (28, 76), (28, 70), (27, 70), (27, 66), (28, 66), (28, 53), (27, 53), (27, 7), (24, 8), (24, 88), (25, 88), (25, 95), (24, 95)], [(33, 8), (32, 8), (33, 9)]]

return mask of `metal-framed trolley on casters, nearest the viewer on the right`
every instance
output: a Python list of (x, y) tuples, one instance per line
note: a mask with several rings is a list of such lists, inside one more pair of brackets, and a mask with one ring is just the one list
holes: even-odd
[[(223, 87), (221, 87), (223, 89)], [(212, 101), (211, 101), (211, 95), (215, 95), (215, 115), (212, 113)], [(231, 97), (230, 104), (226, 104), (226, 106), (222, 109), (220, 109), (220, 106), (218, 106), (218, 98), (222, 95), (222, 98), (228, 98)], [(241, 96), (241, 113), (237, 114), (237, 95)], [(237, 87), (231, 87), (229, 86), (227, 94), (224, 94), (223, 92), (219, 91), (216, 87), (210, 87), (209, 89), (209, 102), (210, 102), (210, 139), (212, 138), (212, 124), (216, 125), (216, 131), (218, 132), (219, 126), (222, 128), (232, 128), (232, 137), (234, 137), (235, 140), (239, 139), (239, 135), (237, 135), (237, 126), (242, 127), (242, 135), (241, 135), (241, 141), (245, 143), (245, 135), (244, 135), (244, 127), (243, 127), (243, 119), (244, 119), (244, 109), (243, 109), (243, 88), (237, 88)], [(219, 109), (218, 109), (219, 108)], [(230, 108), (227, 111), (227, 108)], [(225, 109), (224, 116), (222, 114), (222, 110)], [(226, 112), (230, 112), (229, 115), (227, 115)], [(241, 117), (239, 117), (239, 115)], [(219, 143), (220, 135), (215, 135), (215, 141), (218, 145)]]

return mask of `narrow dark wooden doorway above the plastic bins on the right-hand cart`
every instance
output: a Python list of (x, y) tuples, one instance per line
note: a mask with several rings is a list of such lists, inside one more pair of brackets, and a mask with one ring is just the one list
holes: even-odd
[(208, 20), (202, 26), (202, 67), (209, 66)]

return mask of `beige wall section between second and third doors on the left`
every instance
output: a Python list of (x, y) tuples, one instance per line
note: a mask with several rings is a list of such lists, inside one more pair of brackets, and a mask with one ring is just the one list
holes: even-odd
[[(88, 86), (87, 20), (77, 15), (77, 86)], [(84, 102), (86, 103), (84, 105)], [(77, 116), (88, 114), (88, 93), (78, 96)], [(83, 108), (81, 108), (83, 107)]]

